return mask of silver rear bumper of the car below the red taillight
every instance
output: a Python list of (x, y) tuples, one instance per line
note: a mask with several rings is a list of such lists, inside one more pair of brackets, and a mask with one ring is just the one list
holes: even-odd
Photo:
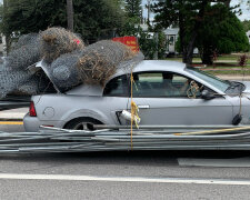
[(38, 132), (41, 126), (56, 127), (62, 129), (63, 121), (40, 121), (37, 117), (30, 117), (27, 113), (23, 118), (23, 127), (27, 132)]

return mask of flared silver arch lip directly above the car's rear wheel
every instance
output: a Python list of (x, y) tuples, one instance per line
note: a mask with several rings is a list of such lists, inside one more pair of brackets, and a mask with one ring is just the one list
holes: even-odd
[(106, 114), (101, 112), (96, 112), (89, 109), (81, 109), (77, 110), (74, 112), (66, 113), (61, 119), (64, 121), (64, 124), (68, 123), (69, 121), (77, 119), (77, 118), (92, 118), (96, 119), (104, 124), (111, 123), (111, 118), (109, 119)]

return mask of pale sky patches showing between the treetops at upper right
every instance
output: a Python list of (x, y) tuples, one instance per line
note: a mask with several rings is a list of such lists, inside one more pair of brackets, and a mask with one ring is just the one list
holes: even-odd
[[(144, 8), (144, 4), (148, 2), (148, 0), (142, 0), (142, 4)], [(240, 9), (242, 10), (242, 14), (238, 16), (238, 18), (243, 21), (243, 20), (250, 20), (250, 8), (247, 7), (247, 0), (232, 0), (231, 6), (236, 6), (240, 3)], [(143, 9), (143, 17), (147, 18), (148, 11)], [(153, 19), (153, 13), (151, 13), (150, 19)]]

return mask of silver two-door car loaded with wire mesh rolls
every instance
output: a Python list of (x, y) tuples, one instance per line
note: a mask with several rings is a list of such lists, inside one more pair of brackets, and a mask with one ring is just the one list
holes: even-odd
[[(174, 61), (144, 60), (132, 74), (140, 124), (250, 123), (248, 82), (222, 81)], [(122, 117), (123, 110), (130, 111), (130, 76), (118, 70), (103, 88), (82, 84), (64, 93), (33, 96), (26, 130), (130, 124)]]

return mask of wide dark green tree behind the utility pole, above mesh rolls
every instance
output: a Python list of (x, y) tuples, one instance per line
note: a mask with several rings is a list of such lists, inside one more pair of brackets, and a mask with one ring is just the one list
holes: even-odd
[[(39, 32), (48, 27), (67, 28), (67, 0), (8, 0), (1, 32), (23, 34)], [(120, 0), (73, 0), (74, 31), (86, 42), (110, 38), (124, 21)]]

